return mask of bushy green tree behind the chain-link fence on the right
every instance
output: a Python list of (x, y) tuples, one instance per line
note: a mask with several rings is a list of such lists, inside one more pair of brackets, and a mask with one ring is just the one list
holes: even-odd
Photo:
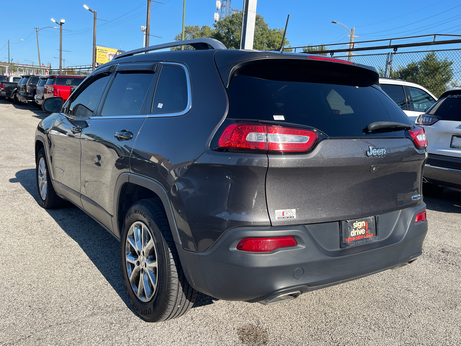
[(436, 97), (452, 86), (453, 61), (439, 59), (435, 52), (427, 53), (419, 61), (412, 61), (407, 66), (398, 66), (390, 70), (391, 78), (400, 78), (407, 82), (420, 84), (430, 90)]

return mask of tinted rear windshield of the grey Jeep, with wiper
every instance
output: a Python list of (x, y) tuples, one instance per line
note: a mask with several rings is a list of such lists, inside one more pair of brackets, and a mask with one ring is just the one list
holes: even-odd
[[(369, 79), (319, 69), (272, 67), (234, 73), (228, 88), (228, 118), (305, 125), (329, 137), (368, 137), (363, 130), (374, 121), (412, 125)], [(372, 134), (376, 135), (402, 137), (403, 131)]]

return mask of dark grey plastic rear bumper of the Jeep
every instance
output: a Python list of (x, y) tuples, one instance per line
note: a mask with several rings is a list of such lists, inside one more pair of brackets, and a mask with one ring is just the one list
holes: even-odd
[[(413, 260), (421, 254), (427, 232), (427, 221), (416, 224), (414, 218), (424, 209), (422, 203), (379, 215), (379, 239), (346, 249), (339, 246), (339, 222), (237, 227), (206, 252), (177, 248), (196, 290), (219, 299), (256, 302), (276, 292), (313, 291)], [(298, 245), (268, 253), (236, 250), (244, 238), (284, 236), (294, 237)]]

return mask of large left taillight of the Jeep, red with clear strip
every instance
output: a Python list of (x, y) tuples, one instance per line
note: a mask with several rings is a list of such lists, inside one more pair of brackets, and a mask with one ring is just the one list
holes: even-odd
[(286, 126), (236, 123), (226, 127), (220, 148), (264, 151), (307, 151), (317, 142), (317, 132)]

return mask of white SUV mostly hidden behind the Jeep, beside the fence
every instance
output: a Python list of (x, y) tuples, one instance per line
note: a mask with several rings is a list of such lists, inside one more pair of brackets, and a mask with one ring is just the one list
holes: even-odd
[(437, 97), (421, 85), (397, 78), (379, 78), (381, 89), (408, 115), (412, 121), (431, 107)]

